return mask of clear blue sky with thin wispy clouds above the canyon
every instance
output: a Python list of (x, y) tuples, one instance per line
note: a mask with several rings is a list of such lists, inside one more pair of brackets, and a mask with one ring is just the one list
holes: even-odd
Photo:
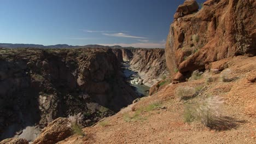
[(164, 47), (183, 2), (0, 0), (0, 43)]

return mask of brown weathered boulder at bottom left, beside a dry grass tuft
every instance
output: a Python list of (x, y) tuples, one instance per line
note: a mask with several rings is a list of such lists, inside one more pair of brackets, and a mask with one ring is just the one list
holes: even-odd
[(42, 130), (34, 144), (54, 144), (72, 135), (67, 118), (57, 118)]

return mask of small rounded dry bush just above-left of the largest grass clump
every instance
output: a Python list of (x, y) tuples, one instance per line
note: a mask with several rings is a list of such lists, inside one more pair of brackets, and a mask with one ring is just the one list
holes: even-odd
[(195, 94), (196, 90), (193, 87), (180, 86), (175, 89), (175, 95), (179, 100), (192, 98)]

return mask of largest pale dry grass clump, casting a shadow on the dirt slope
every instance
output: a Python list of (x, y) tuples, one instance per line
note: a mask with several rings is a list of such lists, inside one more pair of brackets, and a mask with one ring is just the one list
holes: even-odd
[(193, 122), (200, 121), (203, 125), (209, 127), (211, 123), (217, 121), (220, 116), (220, 105), (223, 100), (218, 96), (209, 97), (194, 105), (185, 107), (184, 121)]

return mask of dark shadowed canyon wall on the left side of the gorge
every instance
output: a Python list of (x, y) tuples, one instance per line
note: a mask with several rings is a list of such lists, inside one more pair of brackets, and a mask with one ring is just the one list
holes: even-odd
[(32, 140), (60, 116), (91, 125), (112, 115), (138, 97), (120, 73), (110, 49), (1, 49), (2, 138)]

